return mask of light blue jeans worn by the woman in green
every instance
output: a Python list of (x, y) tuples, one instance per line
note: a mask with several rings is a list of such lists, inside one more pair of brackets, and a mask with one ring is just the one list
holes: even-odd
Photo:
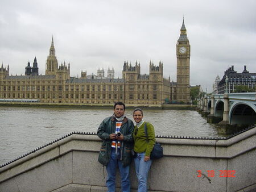
[(147, 173), (150, 170), (152, 160), (144, 161), (145, 152), (137, 153), (134, 158), (135, 170), (138, 178), (138, 192), (147, 192)]

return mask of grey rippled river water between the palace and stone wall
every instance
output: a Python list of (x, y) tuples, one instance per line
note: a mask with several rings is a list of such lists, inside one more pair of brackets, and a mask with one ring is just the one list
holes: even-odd
[[(126, 116), (132, 119), (133, 110)], [(97, 132), (112, 109), (0, 107), (0, 165), (73, 131)], [(196, 111), (144, 110), (156, 135), (220, 136)]]

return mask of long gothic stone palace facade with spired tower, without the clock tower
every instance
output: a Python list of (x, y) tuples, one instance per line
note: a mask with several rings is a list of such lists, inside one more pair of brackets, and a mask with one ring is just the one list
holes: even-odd
[[(36, 61), (36, 59), (35, 59)], [(37, 68), (37, 64), (36, 64)], [(150, 74), (141, 75), (141, 64), (123, 65), (123, 78), (70, 77), (70, 64), (58, 65), (52, 44), (46, 62), (46, 75), (30, 73), (10, 76), (8, 68), (0, 68), (0, 98), (38, 99), (43, 103), (98, 103), (113, 104), (122, 101), (135, 105), (160, 105), (170, 99), (170, 81), (163, 78), (163, 63), (150, 62)]]

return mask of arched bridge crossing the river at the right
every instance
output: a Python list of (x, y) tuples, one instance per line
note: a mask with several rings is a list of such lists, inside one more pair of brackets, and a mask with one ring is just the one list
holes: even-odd
[(199, 99), (197, 110), (210, 123), (255, 124), (256, 93), (208, 95)]

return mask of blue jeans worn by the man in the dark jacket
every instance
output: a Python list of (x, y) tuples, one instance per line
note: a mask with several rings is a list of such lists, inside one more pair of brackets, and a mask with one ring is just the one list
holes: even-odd
[[(118, 150), (119, 152), (119, 150)], [(115, 155), (115, 149), (111, 151), (111, 157), (106, 170), (108, 172), (108, 178), (106, 180), (106, 186), (108, 187), (108, 192), (115, 191), (115, 173), (117, 172), (117, 166), (119, 168), (121, 176), (121, 186), (123, 192), (130, 192), (130, 176), (129, 170), (130, 165), (123, 167), (122, 162), (118, 160), (117, 155)]]

